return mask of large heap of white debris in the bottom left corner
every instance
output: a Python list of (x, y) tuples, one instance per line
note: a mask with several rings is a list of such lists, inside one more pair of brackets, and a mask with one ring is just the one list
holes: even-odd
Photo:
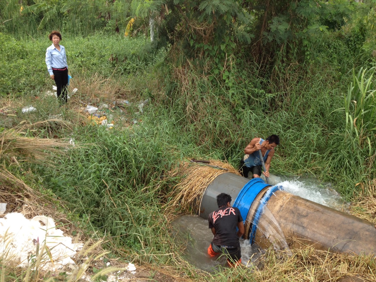
[(6, 214), (0, 218), (0, 259), (6, 258), (20, 267), (28, 267), (36, 258), (36, 251), (45, 249), (39, 268), (54, 271), (74, 264), (71, 256), (76, 255), (76, 250), (83, 244), (73, 244), (72, 238), (63, 233), (50, 217), (42, 215), (28, 220), (18, 212)]

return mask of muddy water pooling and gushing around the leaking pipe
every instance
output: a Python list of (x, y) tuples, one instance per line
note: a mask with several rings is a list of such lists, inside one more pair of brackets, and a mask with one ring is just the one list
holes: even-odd
[[(311, 200), (321, 205), (328, 206), (340, 211), (347, 211), (348, 205), (344, 203), (341, 196), (332, 188), (330, 183), (320, 183), (317, 179), (305, 177), (285, 177), (271, 176), (271, 185), (282, 186), (282, 189), (304, 199)], [(276, 250), (288, 249), (287, 243), (280, 230), (279, 224), (273, 215), (268, 212), (267, 206), (263, 210), (264, 220), (258, 222), (258, 229), (264, 233), (266, 238), (272, 243)], [(221, 267), (226, 267), (226, 258), (209, 258), (207, 254), (208, 246), (213, 238), (211, 230), (208, 228), (208, 220), (192, 215), (184, 215), (177, 218), (173, 223), (173, 238), (175, 243), (183, 250), (183, 257), (190, 264), (205, 270), (218, 271)], [(251, 246), (249, 240), (240, 241), (242, 252), (242, 263), (247, 267), (252, 267), (258, 263), (259, 256), (264, 250), (257, 246)]]

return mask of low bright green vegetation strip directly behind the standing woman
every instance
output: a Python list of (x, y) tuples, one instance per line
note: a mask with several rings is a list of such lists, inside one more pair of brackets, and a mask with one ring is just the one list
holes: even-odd
[[(0, 96), (30, 95), (47, 85), (50, 90), (54, 82), (49, 78), (45, 65), (45, 50), (52, 43), (47, 35), (16, 39), (0, 33)], [(147, 40), (142, 36), (130, 40), (123, 35), (97, 33), (82, 38), (63, 33), (62, 38), (61, 44), (66, 48), (69, 73), (73, 80), (76, 77), (87, 79), (96, 74), (104, 79), (115, 77), (117, 81), (130, 77), (127, 84), (137, 85), (139, 76), (153, 75), (153, 65), (158, 64), (164, 56), (161, 51), (156, 56), (139, 59), (138, 51)], [(123, 88), (122, 91), (128, 89)]]

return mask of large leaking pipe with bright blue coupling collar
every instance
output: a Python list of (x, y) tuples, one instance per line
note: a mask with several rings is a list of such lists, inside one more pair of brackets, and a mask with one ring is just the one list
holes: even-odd
[(249, 239), (251, 244), (271, 245), (257, 227), (266, 216), (263, 211), (267, 206), (290, 246), (304, 243), (331, 252), (376, 255), (376, 228), (373, 223), (302, 199), (280, 188), (266, 184), (261, 178), (248, 180), (237, 174), (223, 173), (206, 188), (199, 215), (208, 218), (218, 208), (217, 195), (227, 193), (233, 199), (231, 205), (239, 208), (245, 219), (244, 238)]

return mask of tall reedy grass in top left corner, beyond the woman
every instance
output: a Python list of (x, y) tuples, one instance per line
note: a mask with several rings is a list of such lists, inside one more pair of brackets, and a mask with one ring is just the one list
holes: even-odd
[[(109, 18), (107, 13), (117, 15), (114, 5), (104, 0), (56, 0), (2, 1), (0, 3), (0, 31), (14, 34), (17, 38), (24, 35), (38, 36), (61, 30), (75, 36), (86, 36), (103, 29)], [(22, 6), (22, 11), (21, 11)], [(102, 15), (103, 14), (103, 15)]]

